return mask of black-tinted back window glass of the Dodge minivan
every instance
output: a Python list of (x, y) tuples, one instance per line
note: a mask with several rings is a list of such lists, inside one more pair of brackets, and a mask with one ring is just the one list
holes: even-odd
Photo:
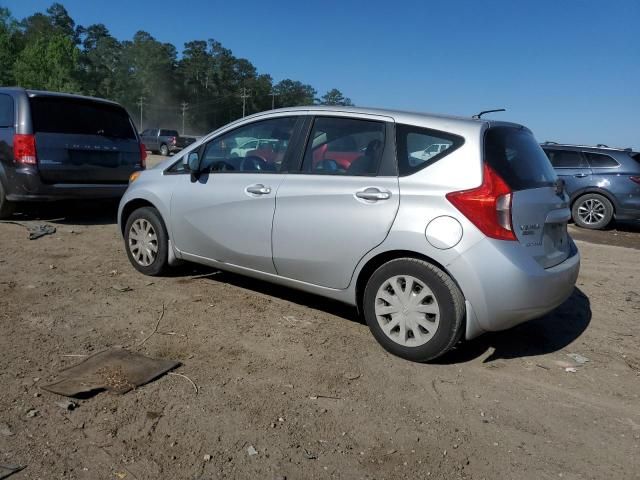
[(68, 97), (32, 97), (31, 117), (35, 133), (71, 133), (136, 139), (124, 108)]

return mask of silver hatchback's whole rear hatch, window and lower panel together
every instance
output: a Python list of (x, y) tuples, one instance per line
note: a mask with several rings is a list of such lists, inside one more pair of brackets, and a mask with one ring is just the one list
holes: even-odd
[(512, 190), (513, 231), (525, 250), (544, 268), (570, 253), (569, 197), (531, 131), (520, 126), (490, 127), (484, 161)]

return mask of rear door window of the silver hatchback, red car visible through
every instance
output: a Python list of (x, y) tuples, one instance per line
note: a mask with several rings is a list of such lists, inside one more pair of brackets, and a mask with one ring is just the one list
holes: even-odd
[(323, 175), (375, 175), (384, 150), (384, 122), (317, 117), (302, 170)]

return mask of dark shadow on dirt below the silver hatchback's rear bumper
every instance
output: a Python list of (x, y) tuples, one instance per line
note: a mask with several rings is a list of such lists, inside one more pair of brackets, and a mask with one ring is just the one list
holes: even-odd
[(465, 363), (481, 357), (489, 350), (493, 351), (483, 363), (557, 352), (580, 337), (589, 323), (591, 302), (576, 287), (562, 305), (547, 315), (509, 330), (485, 333), (473, 340), (460, 342), (456, 348), (432, 363)]

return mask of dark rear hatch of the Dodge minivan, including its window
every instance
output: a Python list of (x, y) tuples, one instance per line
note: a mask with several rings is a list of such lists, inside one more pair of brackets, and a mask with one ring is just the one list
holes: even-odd
[(47, 95), (29, 102), (44, 182), (127, 183), (141, 168), (138, 138), (121, 106)]

